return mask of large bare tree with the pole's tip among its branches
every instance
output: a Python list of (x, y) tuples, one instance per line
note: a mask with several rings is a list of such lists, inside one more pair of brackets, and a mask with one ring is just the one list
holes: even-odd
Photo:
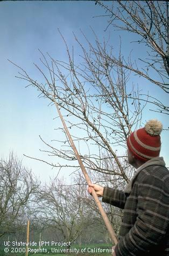
[[(45, 83), (38, 83), (18, 67), (21, 71), (19, 78), (36, 87), (40, 92), (39, 97), (47, 98), (50, 104), (53, 104), (54, 98), (57, 100), (68, 128), (72, 129), (75, 143), (81, 144), (83, 149), (86, 147), (86, 152), (80, 154), (87, 169), (113, 173), (128, 182), (129, 177), (125, 173), (123, 160), (126, 155), (125, 141), (131, 130), (140, 126), (142, 119), (145, 105), (139, 100), (139, 91), (128, 84), (129, 70), (110, 62), (113, 49), (108, 42), (101, 44), (96, 37), (95, 45), (92, 45), (84, 35), (88, 43), (86, 50), (75, 36), (82, 51), (82, 63), (75, 64), (74, 51), (69, 51), (64, 37), (61, 37), (66, 45), (68, 63), (54, 60), (49, 54), (46, 57), (41, 52), (40, 62), (43, 66), (34, 65), (44, 77)], [(44, 68), (47, 70), (46, 74)], [(133, 96), (133, 99), (130, 96)], [(58, 130), (64, 132), (61, 127)], [(81, 136), (78, 136), (78, 133)], [(46, 152), (50, 156), (62, 158), (65, 163), (67, 160), (64, 165), (48, 164), (59, 169), (79, 169), (79, 166), (74, 164), (76, 158), (67, 139), (55, 139), (52, 143), (45, 142), (43, 138), (41, 140), (48, 147)], [(111, 169), (107, 169), (105, 159), (113, 161)]]

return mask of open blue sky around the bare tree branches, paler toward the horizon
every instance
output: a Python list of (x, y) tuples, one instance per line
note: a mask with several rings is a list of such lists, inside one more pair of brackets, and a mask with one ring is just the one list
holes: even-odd
[[(103, 10), (93, 1), (4, 1), (0, 3), (0, 152), (1, 156), (8, 157), (13, 150), (19, 158), (23, 158), (23, 163), (27, 167), (40, 176), (41, 180), (54, 177), (56, 172), (51, 170), (50, 166), (23, 157), (23, 154), (47, 159), (45, 153), (39, 152), (39, 149), (46, 149), (39, 135), (49, 141), (59, 136), (54, 130), (56, 121), (53, 118), (56, 116), (56, 110), (48, 107), (46, 100), (37, 98), (36, 89), (31, 87), (25, 89), (26, 84), (23, 80), (15, 78), (18, 70), (7, 59), (22, 66), (32, 77), (39, 78), (33, 66), (34, 62), (38, 63), (40, 57), (38, 48), (43, 52), (49, 52), (53, 58), (66, 60), (65, 46), (57, 29), (59, 28), (65, 36), (68, 46), (72, 47), (76, 44), (73, 31), (85, 44), (80, 29), (91, 42), (94, 41), (90, 26), (95, 30), (100, 41), (103, 41), (103, 37), (107, 38), (110, 32), (110, 41), (115, 51), (119, 48), (119, 35), (121, 35), (124, 55), (133, 49), (132, 55), (136, 58), (140, 51), (143, 51), (142, 48), (138, 51), (138, 45), (130, 43), (129, 34), (113, 31), (111, 27), (104, 32), (107, 18), (93, 18), (102, 14)], [(140, 84), (140, 80), (137, 79), (136, 77), (134, 82)], [(145, 86), (149, 87), (146, 83), (143, 88)], [(152, 87), (150, 87), (151, 90)], [(158, 88), (153, 89), (152, 92), (154, 96), (161, 95), (164, 102), (167, 102), (167, 95), (163, 95)], [(147, 109), (144, 112), (143, 122), (149, 118), (158, 118), (165, 125), (168, 122), (167, 116)], [(169, 166), (168, 133), (163, 132), (161, 138), (163, 140), (161, 155)]]

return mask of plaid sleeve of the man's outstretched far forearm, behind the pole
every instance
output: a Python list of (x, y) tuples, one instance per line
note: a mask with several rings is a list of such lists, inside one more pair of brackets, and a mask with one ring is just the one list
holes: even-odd
[(113, 190), (110, 187), (104, 187), (102, 201), (124, 209), (126, 196), (121, 190)]

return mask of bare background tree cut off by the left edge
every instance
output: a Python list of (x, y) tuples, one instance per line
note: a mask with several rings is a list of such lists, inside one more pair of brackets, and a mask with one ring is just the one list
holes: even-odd
[(24, 218), (27, 203), (38, 187), (38, 181), (22, 161), (10, 154), (0, 161), (0, 237), (15, 233)]

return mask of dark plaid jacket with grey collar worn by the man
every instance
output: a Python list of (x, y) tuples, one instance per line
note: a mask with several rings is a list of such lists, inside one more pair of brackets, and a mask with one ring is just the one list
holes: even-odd
[(117, 256), (169, 255), (169, 172), (163, 158), (154, 159), (139, 167), (124, 192), (104, 187), (102, 201), (124, 209)]

